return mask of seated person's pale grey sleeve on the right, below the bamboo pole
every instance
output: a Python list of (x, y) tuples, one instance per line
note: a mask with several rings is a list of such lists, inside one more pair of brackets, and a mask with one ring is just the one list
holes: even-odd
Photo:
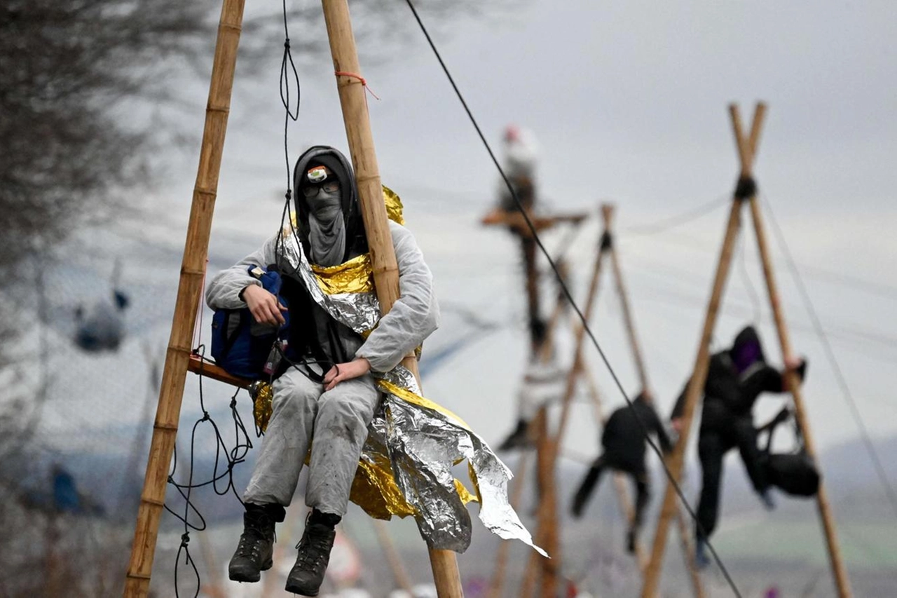
[(440, 323), (433, 276), (414, 236), (392, 221), (389, 228), (396, 248), (399, 298), (355, 353), (370, 361), (370, 369), (375, 372), (388, 372), (396, 367)]

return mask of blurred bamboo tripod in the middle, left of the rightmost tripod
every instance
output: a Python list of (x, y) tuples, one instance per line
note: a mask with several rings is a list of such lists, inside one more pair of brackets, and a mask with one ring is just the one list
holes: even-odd
[[(597, 292), (601, 279), (602, 265), (605, 256), (608, 256), (611, 261), (611, 269), (612, 275), (614, 277), (616, 291), (620, 297), (620, 303), (623, 306), (623, 323), (630, 342), (632, 357), (639, 375), (641, 388), (650, 396), (647, 369), (644, 365), (644, 359), (641, 355), (638, 338), (635, 334), (635, 325), (630, 309), (629, 296), (626, 293), (626, 287), (623, 283), (622, 268), (620, 268), (620, 261), (615, 251), (614, 235), (612, 230), (614, 220), (614, 206), (610, 204), (602, 205), (601, 215), (604, 224), (604, 231), (600, 237), (601, 241), (598, 246), (597, 258), (595, 260), (595, 266), (593, 268), (592, 277), (588, 287), (588, 298), (585, 303), (585, 312), (583, 313), (583, 315), (585, 316), (586, 321), (590, 320), (594, 309), (594, 304), (597, 302)], [(520, 590), (520, 596), (522, 596), (523, 598), (528, 598), (532, 595), (533, 587), (536, 584), (536, 576), (538, 576), (539, 573), (542, 574), (540, 595), (543, 598), (553, 598), (553, 596), (557, 594), (558, 570), (561, 567), (562, 561), (559, 550), (560, 541), (558, 539), (557, 532), (558, 523), (556, 501), (545, 501), (543, 493), (549, 492), (553, 495), (553, 488), (555, 487), (555, 479), (553, 473), (554, 465), (557, 460), (562, 437), (565, 432), (570, 402), (573, 398), (573, 394), (576, 391), (577, 383), (579, 383), (580, 376), (587, 383), (589, 396), (591, 397), (593, 405), (596, 409), (598, 423), (603, 424), (605, 420), (600, 395), (597, 392), (597, 387), (591, 378), (590, 371), (585, 366), (584, 358), (582, 356), (582, 344), (585, 340), (585, 329), (579, 323), (574, 325), (574, 337), (575, 348), (573, 365), (570, 367), (570, 372), (567, 375), (567, 383), (565, 385), (562, 397), (561, 421), (558, 425), (558, 430), (554, 438), (551, 438), (551, 436), (548, 434), (546, 409), (543, 408), (540, 410), (539, 417), (536, 420), (538, 426), (537, 430), (540, 437), (540, 443), (538, 444), (537, 453), (537, 459), (539, 459), (540, 461), (540, 464), (537, 466), (539, 475), (538, 483), (540, 489), (540, 497), (543, 498), (538, 512), (538, 528), (536, 531), (536, 541), (540, 542), (544, 547), (552, 546), (553, 552), (549, 552), (549, 554), (552, 555), (551, 560), (542, 558), (541, 562), (539, 561), (537, 555), (534, 554), (530, 556), (529, 566), (527, 567), (527, 575), (524, 577), (523, 585), (521, 586)], [(635, 509), (632, 506), (632, 501), (629, 496), (629, 490), (626, 485), (626, 479), (623, 474), (614, 472), (614, 489), (617, 494), (617, 500), (623, 517), (627, 522), (631, 523), (632, 518), (635, 515)], [(698, 598), (702, 598), (704, 594), (701, 586), (701, 580), (697, 575), (697, 571), (694, 568), (694, 564), (691, 560), (692, 551), (688, 539), (688, 532), (681, 514), (679, 514), (678, 516), (678, 522), (680, 525), (680, 532), (682, 533), (686, 566), (691, 573), (694, 595)], [(645, 554), (640, 543), (636, 544), (635, 557), (640, 571), (644, 571), (645, 567), (647, 566), (648, 560), (647, 555)]]

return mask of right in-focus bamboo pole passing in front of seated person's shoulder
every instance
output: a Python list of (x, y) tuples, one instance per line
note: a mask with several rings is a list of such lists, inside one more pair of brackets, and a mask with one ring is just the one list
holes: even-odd
[[(389, 233), (386, 206), (380, 185), (377, 154), (374, 151), (373, 135), (370, 131), (368, 104), (365, 98), (361, 66), (355, 49), (352, 20), (346, 0), (322, 0), (324, 18), (327, 22), (327, 38), (336, 73), (336, 87), (343, 109), (345, 133), (349, 142), (349, 153), (355, 170), (355, 180), (361, 200), (361, 217), (368, 237), (374, 286), (380, 310), (388, 312), (399, 297), (398, 266), (396, 251)], [(418, 376), (417, 360), (406, 356), (402, 361)], [(457, 559), (451, 550), (430, 549), (433, 581), (440, 598), (463, 596), (461, 578), (457, 570)]]

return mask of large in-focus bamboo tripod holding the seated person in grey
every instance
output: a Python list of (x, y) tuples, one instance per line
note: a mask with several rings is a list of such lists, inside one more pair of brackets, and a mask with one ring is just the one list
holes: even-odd
[[(203, 291), (205, 259), (221, 171), (244, 4), (245, 0), (223, 0), (222, 4), (178, 296), (126, 576), (124, 595), (129, 598), (143, 598), (149, 593), (168, 467), (178, 433), (181, 401), (190, 364), (190, 337), (196, 324), (196, 305)], [(386, 313), (399, 296), (398, 268), (386, 207), (382, 200), (377, 156), (370, 131), (364, 83), (359, 75), (361, 68), (355, 49), (352, 22), (346, 0), (322, 0), (322, 4), (335, 72), (342, 74), (337, 75), (337, 89), (368, 237), (374, 284), (381, 311)], [(414, 356), (405, 357), (403, 365), (417, 376)], [(231, 383), (239, 385), (240, 381), (231, 379)], [(455, 553), (430, 549), (430, 560), (439, 597), (463, 596)]]

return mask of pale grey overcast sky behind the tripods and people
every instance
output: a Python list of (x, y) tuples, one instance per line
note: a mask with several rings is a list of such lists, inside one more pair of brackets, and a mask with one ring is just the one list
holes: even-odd
[[(414, 33), (410, 13), (407, 19), (402, 27)], [(897, 432), (894, 23), (893, 4), (885, 2), (534, 0), (512, 14), (443, 27), (437, 43), (496, 149), (509, 123), (535, 132), (542, 149), (538, 183), (551, 207), (597, 213), (600, 200), (617, 204), (623, 271), (664, 411), (692, 368), (725, 227), (722, 198), (738, 171), (727, 103), (741, 103), (747, 127), (753, 102), (767, 101), (756, 179), (804, 269), (863, 416), (874, 434), (884, 435)], [(494, 200), (497, 173), (422, 35), (409, 40), (390, 62), (370, 67), (370, 48), (360, 48), (363, 74), (380, 98), (370, 98), (370, 119), (382, 178), (405, 200), (408, 225), (433, 269), (440, 301), (516, 322), (457, 355), (425, 381), (425, 390), (495, 443), (515, 418), (525, 365), (518, 250), (509, 234), (477, 224)], [(286, 176), (280, 60), (280, 47), (273, 47), (265, 73), (251, 81), (238, 74), (213, 253), (252, 251), (279, 222)], [(292, 160), (311, 144), (346, 147), (330, 62), (312, 63), (300, 67)], [(197, 97), (205, 98), (205, 84), (200, 87)], [(197, 107), (187, 119), (193, 128), (188, 132), (198, 136), (202, 122)], [(155, 207), (174, 224), (170, 233), (178, 239), (196, 176), (196, 156), (186, 155)], [(715, 198), (717, 209), (670, 232), (629, 232)], [(238, 231), (247, 233), (242, 242), (234, 241)], [(580, 297), (597, 234), (593, 222), (573, 247)], [(547, 241), (556, 245), (557, 237), (549, 234)], [(745, 276), (764, 299), (754, 247), (748, 237), (745, 259), (732, 270), (727, 311), (717, 329), (721, 343), (752, 320)], [(832, 445), (857, 435), (857, 428), (778, 250), (776, 255), (793, 344), (811, 362), (806, 403), (814, 435), (817, 444)], [(835, 278), (845, 276), (859, 280)], [(621, 314), (608, 282), (593, 323), (633, 392)], [(778, 362), (768, 313), (764, 303), (767, 352)], [(622, 404), (594, 347), (587, 356), (607, 406)], [(778, 405), (765, 401), (761, 412)], [(568, 444), (593, 453), (596, 430), (588, 409), (578, 409), (583, 417), (576, 418)]]

